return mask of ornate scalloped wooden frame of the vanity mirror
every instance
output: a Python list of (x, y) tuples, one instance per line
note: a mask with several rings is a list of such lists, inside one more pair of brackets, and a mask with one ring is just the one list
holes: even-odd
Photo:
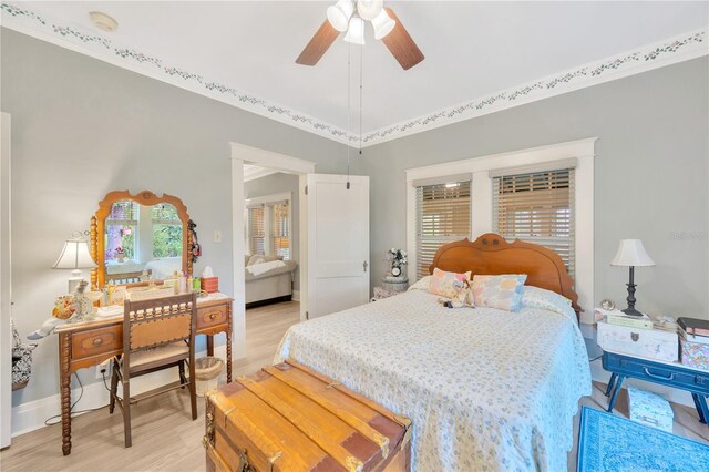
[(131, 199), (140, 205), (153, 206), (158, 203), (169, 203), (175, 206), (179, 220), (182, 222), (182, 270), (192, 275), (192, 232), (188, 228), (189, 215), (187, 214), (187, 207), (179, 198), (173, 195), (163, 194), (157, 196), (150, 191), (143, 191), (136, 195), (131, 195), (129, 191), (115, 191), (110, 192), (99, 203), (99, 209), (96, 214), (91, 217), (91, 236), (90, 236), (90, 250), (91, 256), (96, 263), (96, 268), (91, 270), (91, 287), (93, 290), (103, 287), (105, 283), (106, 269), (105, 269), (105, 220), (111, 213), (111, 207), (115, 202), (122, 199)]

